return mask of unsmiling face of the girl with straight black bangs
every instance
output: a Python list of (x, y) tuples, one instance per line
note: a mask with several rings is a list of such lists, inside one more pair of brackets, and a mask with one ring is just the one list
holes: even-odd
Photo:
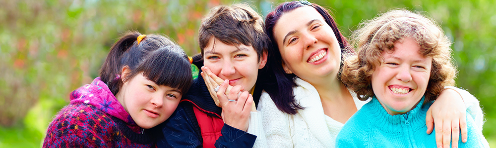
[(116, 96), (134, 122), (141, 128), (149, 129), (171, 116), (179, 105), (182, 93), (137, 74), (124, 83)]

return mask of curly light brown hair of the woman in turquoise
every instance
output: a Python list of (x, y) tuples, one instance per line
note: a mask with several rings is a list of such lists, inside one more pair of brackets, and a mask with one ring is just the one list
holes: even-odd
[(389, 10), (360, 23), (352, 37), (358, 56), (345, 59), (341, 77), (360, 100), (374, 96), (372, 73), (384, 60), (381, 53), (394, 50), (394, 43), (407, 37), (419, 43), (423, 56), (433, 58), (425, 102), (435, 100), (445, 86), (455, 83), (457, 71), (451, 58), (451, 41), (433, 19), (420, 12)]

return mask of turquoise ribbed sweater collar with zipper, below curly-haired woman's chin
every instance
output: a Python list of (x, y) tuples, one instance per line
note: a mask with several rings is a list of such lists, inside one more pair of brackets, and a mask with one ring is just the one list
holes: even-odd
[(415, 128), (425, 126), (426, 114), (423, 112), (427, 111), (430, 106), (423, 106), (424, 100), (425, 96), (422, 97), (413, 110), (397, 115), (387, 113), (375, 96), (366, 106), (370, 110), (372, 126), (384, 130), (393, 130), (392, 132), (394, 132), (394, 129), (401, 128), (404, 125)]

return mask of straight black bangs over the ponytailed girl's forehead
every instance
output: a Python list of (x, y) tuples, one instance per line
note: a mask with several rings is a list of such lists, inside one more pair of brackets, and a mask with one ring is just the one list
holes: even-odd
[(137, 74), (142, 72), (157, 85), (176, 88), (186, 94), (192, 83), (191, 64), (180, 46), (162, 46), (147, 56), (136, 69)]

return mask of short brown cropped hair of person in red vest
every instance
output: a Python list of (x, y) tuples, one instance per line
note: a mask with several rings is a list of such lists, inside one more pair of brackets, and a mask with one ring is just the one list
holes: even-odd
[(253, 46), (258, 60), (262, 52), (267, 51), (270, 42), (263, 30), (262, 18), (244, 3), (216, 6), (203, 18), (198, 31), (198, 43), (202, 56), (203, 49), (207, 47), (211, 37), (228, 45)]

